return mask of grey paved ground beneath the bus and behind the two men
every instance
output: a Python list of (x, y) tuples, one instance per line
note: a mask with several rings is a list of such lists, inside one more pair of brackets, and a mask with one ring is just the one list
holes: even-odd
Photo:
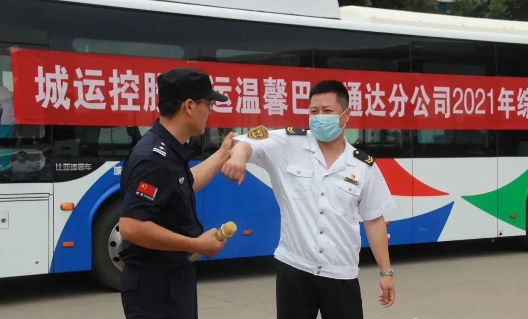
[[(489, 241), (391, 249), (397, 302), (376, 299), (378, 273), (362, 252), (360, 283), (365, 318), (525, 319), (528, 252)], [(201, 319), (275, 318), (271, 258), (214, 262), (200, 268)], [(0, 279), (0, 318), (124, 318), (119, 294), (87, 274)]]

